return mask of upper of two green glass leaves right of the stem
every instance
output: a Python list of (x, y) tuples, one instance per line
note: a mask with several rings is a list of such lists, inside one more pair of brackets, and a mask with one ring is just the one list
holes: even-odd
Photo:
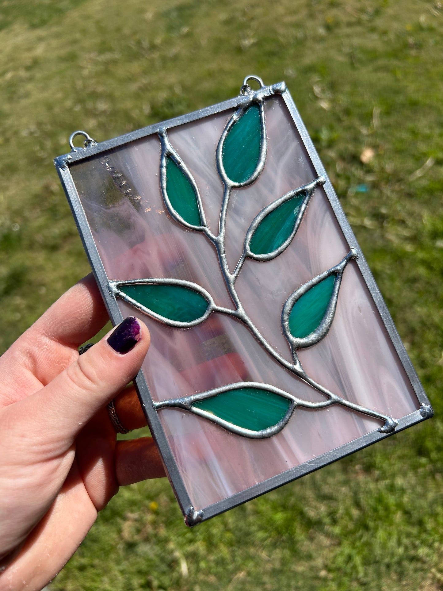
[(262, 219), (249, 242), (252, 254), (270, 254), (286, 242), (294, 230), (298, 210), (304, 197), (304, 194), (292, 197)]

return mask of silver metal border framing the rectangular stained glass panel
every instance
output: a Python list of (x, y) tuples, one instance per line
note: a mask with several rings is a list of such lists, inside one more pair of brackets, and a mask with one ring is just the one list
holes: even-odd
[[(308, 131), (302, 122), (294, 101), (292, 100), (289, 91), (286, 89), (285, 83), (281, 82), (272, 86), (260, 87), (258, 91), (247, 96), (247, 99), (250, 100), (254, 95), (257, 95), (260, 98), (265, 98), (266, 96), (272, 96), (277, 93), (282, 96), (282, 99), (284, 100), (285, 105), (291, 114), (292, 121), (294, 122), (295, 128), (297, 128), (298, 134), (305, 145), (308, 156), (311, 158), (317, 176), (326, 178), (324, 190), (331, 207), (334, 210), (334, 214), (337, 217), (338, 224), (340, 225), (340, 228), (348, 242), (348, 245), (350, 248), (357, 247), (361, 253), (351, 226), (349, 225), (344, 211), (341, 208), (340, 202), (338, 201), (337, 195), (335, 194), (331, 181), (327, 176), (323, 164), (320, 161), (320, 157), (315, 150), (314, 144), (312, 143)], [(222, 111), (235, 109), (238, 105), (239, 97), (237, 96), (236, 98), (226, 100), (222, 103), (218, 103), (217, 105), (200, 109), (198, 111), (194, 111), (193, 113), (188, 113), (187, 115), (175, 117), (174, 119), (170, 119), (169, 121), (165, 121), (160, 124), (149, 125), (145, 128), (138, 129), (137, 131), (122, 135), (118, 138), (100, 142), (99, 144), (89, 142), (86, 148), (77, 148), (76, 150), (70, 152), (70, 154), (64, 154), (54, 160), (58, 176), (60, 177), (60, 181), (69, 201), (74, 219), (76, 220), (77, 228), (79, 229), (84, 249), (88, 256), (93, 274), (97, 281), (97, 285), (99, 285), (100, 292), (102, 293), (103, 300), (105, 301), (106, 309), (108, 310), (109, 317), (113, 324), (118, 324), (122, 321), (122, 314), (120, 313), (115, 297), (108, 290), (107, 286), (109, 278), (106, 275), (105, 268), (103, 267), (102, 261), (97, 251), (89, 224), (87, 223), (86, 215), (80, 202), (79, 194), (77, 193), (73, 178), (71, 177), (69, 166), (93, 155), (101, 154), (102, 152), (113, 150), (113, 148), (118, 148), (137, 139), (145, 138), (151, 134), (156, 134), (161, 128), (171, 129), (172, 127), (184, 125), (192, 121), (197, 121), (197, 119), (214, 115)], [(426, 420), (426, 418), (432, 417), (434, 413), (419, 381), (418, 375), (412, 366), (412, 362), (409, 359), (405, 346), (403, 345), (402, 340), (400, 339), (400, 336), (396, 330), (392, 317), (387, 310), (385, 301), (383, 301), (382, 294), (380, 294), (379, 288), (377, 287), (374, 277), (367, 265), (366, 259), (361, 254), (357, 261), (357, 265), (359, 266), (367, 288), (373, 297), (377, 310), (382, 317), (383, 323), (385, 324), (387, 333), (392, 340), (393, 346), (399, 355), (403, 368), (405, 368), (406, 375), (408, 375), (413, 390), (415, 391), (415, 394), (421, 404), (421, 408), (419, 410), (399, 419), (398, 427), (395, 429), (395, 433), (398, 433), (398, 431), (402, 431), (407, 427), (411, 427), (412, 425)], [(211, 517), (215, 517), (216, 515), (227, 511), (228, 509), (232, 509), (237, 505), (240, 505), (246, 501), (250, 501), (251, 499), (262, 495), (265, 492), (272, 491), (273, 489), (278, 488), (278, 486), (291, 482), (291, 480), (301, 478), (301, 476), (314, 472), (323, 466), (327, 466), (328, 464), (335, 462), (335, 460), (357, 452), (358, 450), (376, 443), (377, 441), (381, 441), (382, 439), (385, 439), (386, 437), (389, 437), (393, 434), (380, 433), (380, 431), (377, 430), (371, 431), (370, 433), (359, 437), (359, 439), (337, 447), (337, 449), (331, 450), (331, 452), (315, 457), (309, 462), (305, 462), (299, 466), (291, 468), (282, 474), (273, 476), (268, 480), (264, 480), (263, 482), (251, 486), (245, 491), (238, 492), (226, 499), (223, 499), (223, 501), (219, 501), (213, 505), (196, 510), (191, 504), (190, 497), (187, 490), (185, 489), (183, 479), (181, 478), (177, 463), (175, 462), (174, 456), (172, 455), (164, 430), (159, 421), (157, 411), (154, 408), (154, 402), (152, 401), (151, 394), (149, 393), (148, 385), (146, 384), (145, 376), (143, 375), (142, 371), (139, 372), (135, 378), (135, 387), (137, 389), (146, 420), (148, 421), (148, 426), (151, 430), (152, 437), (154, 437), (155, 443), (158, 446), (162, 461), (164, 462), (164, 466), (168, 474), (168, 478), (171, 482), (172, 489), (175, 493), (175, 496), (177, 497), (181, 511), (183, 512), (185, 523), (190, 526), (196, 525), (200, 521), (206, 521), (206, 519), (210, 519)]]

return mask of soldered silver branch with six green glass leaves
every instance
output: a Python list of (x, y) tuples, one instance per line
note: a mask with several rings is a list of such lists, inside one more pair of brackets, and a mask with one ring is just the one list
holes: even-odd
[(297, 407), (320, 410), (340, 404), (383, 421), (379, 431), (391, 433), (398, 421), (345, 400), (317, 384), (306, 374), (297, 354), (298, 349), (314, 346), (328, 334), (334, 320), (343, 272), (348, 261), (358, 258), (356, 249), (351, 248), (335, 267), (301, 285), (287, 298), (282, 309), (281, 326), (291, 350), (290, 360), (281, 356), (260, 333), (237, 294), (235, 283), (246, 259), (266, 262), (282, 254), (294, 240), (315, 189), (326, 181), (324, 177), (318, 177), (262, 209), (250, 223), (242, 256), (231, 271), (225, 249), (229, 200), (233, 190), (241, 190), (256, 181), (265, 166), (264, 97), (265, 93), (261, 91), (242, 96), (220, 137), (216, 161), (224, 190), (217, 234), (209, 228), (196, 181), (172, 147), (167, 129), (158, 131), (161, 142), (161, 192), (165, 207), (175, 222), (188, 230), (202, 232), (214, 246), (233, 309), (217, 306), (210, 293), (200, 285), (178, 279), (149, 277), (110, 281), (109, 289), (115, 297), (158, 322), (175, 328), (197, 326), (213, 313), (232, 316), (247, 326), (275, 361), (325, 396), (324, 401), (310, 402), (269, 384), (237, 382), (183, 398), (154, 402), (157, 410), (182, 408), (233, 433), (263, 439), (281, 431)]

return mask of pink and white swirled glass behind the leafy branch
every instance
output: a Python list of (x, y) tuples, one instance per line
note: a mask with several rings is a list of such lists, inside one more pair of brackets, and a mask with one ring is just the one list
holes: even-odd
[[(284, 102), (266, 100), (268, 156), (258, 181), (234, 190), (226, 225), (230, 269), (243, 249), (253, 217), (268, 203), (315, 178), (310, 158)], [(172, 146), (183, 158), (200, 190), (204, 210), (217, 232), (223, 186), (215, 153), (232, 111), (173, 128)], [(170, 277), (194, 281), (216, 304), (232, 307), (213, 245), (201, 234), (181, 228), (165, 211), (159, 183), (157, 135), (107, 154), (109, 164), (140, 196), (138, 205), (115, 188), (103, 154), (71, 166), (97, 249), (108, 277), (128, 280)], [(281, 355), (290, 359), (281, 329), (282, 306), (296, 288), (337, 264), (350, 246), (323, 187), (288, 249), (271, 262), (247, 260), (237, 292), (250, 318)], [(134, 310), (119, 303), (123, 316)], [(138, 313), (151, 331), (143, 371), (154, 400), (194, 394), (242, 380), (273, 384), (305, 400), (324, 400), (283, 369), (243, 324), (213, 314), (193, 329), (172, 329)], [(419, 408), (398, 355), (356, 262), (343, 275), (335, 319), (328, 335), (299, 356), (311, 378), (347, 400), (400, 418)], [(308, 462), (370, 431), (380, 422), (346, 408), (297, 409), (286, 427), (265, 440), (250, 440), (177, 409), (159, 411), (193, 505), (204, 508), (255, 483)]]

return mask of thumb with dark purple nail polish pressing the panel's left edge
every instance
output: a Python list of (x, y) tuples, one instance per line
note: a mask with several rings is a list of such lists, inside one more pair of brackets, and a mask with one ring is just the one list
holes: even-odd
[(58, 443), (62, 452), (138, 373), (149, 341), (145, 324), (129, 316), (47, 386), (12, 405), (13, 413), (28, 417), (27, 427), (34, 429), (37, 441), (44, 438), (44, 447)]

